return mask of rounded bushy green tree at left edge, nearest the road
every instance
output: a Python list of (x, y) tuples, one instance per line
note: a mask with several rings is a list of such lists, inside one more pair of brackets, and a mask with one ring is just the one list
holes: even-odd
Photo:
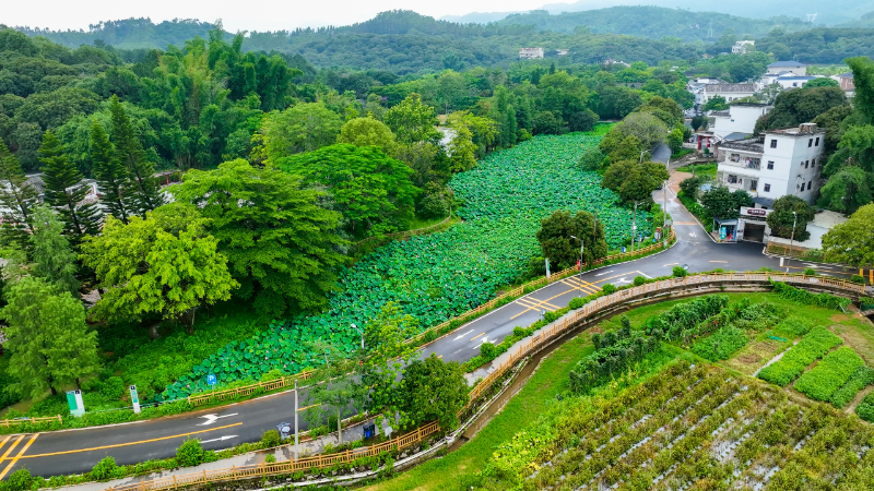
[(12, 354), (7, 370), (20, 394), (54, 395), (96, 370), (97, 332), (87, 328), (82, 302), (31, 276), (14, 283), (5, 299), (0, 318), (8, 323), (4, 348)]

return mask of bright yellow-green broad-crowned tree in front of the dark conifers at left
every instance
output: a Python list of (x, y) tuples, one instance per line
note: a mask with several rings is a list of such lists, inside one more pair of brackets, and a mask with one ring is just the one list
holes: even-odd
[(202, 304), (231, 298), (231, 277), (218, 241), (192, 205), (172, 203), (128, 224), (107, 217), (99, 237), (82, 244), (84, 263), (105, 292), (94, 315), (108, 322), (158, 314), (180, 321), (190, 334)]

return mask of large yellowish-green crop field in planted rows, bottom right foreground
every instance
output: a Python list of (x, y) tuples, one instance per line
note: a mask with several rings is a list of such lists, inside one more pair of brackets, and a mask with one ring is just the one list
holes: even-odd
[(492, 469), (555, 491), (862, 490), (874, 476), (870, 426), (709, 364), (680, 361), (555, 424), (534, 458), (499, 446)]

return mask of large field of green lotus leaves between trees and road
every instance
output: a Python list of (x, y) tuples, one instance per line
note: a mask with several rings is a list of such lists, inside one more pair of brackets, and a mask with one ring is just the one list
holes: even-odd
[[(387, 244), (340, 275), (340, 290), (323, 313), (274, 321), (249, 339), (233, 342), (196, 366), (164, 392), (165, 399), (208, 391), (205, 375), (220, 384), (258, 379), (279, 369), (296, 373), (319, 363), (309, 349), (316, 339), (352, 352), (358, 334), (388, 302), (397, 302), (425, 330), (494, 297), (539, 253), (540, 220), (554, 212), (597, 211), (607, 242), (618, 247), (630, 232), (631, 215), (617, 196), (599, 185), (593, 172), (577, 169), (582, 152), (600, 136), (581, 133), (538, 136), (495, 152), (450, 182), (464, 205), (464, 219), (450, 229)], [(650, 233), (646, 214), (637, 224)]]

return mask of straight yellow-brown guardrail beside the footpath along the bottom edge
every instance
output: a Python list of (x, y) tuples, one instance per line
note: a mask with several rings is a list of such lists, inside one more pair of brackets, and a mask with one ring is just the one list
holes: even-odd
[(153, 479), (151, 481), (134, 482), (107, 489), (111, 491), (150, 491), (176, 489), (185, 486), (210, 484), (246, 478), (283, 476), (297, 472), (299, 470), (331, 467), (336, 464), (350, 464), (362, 457), (378, 456), (382, 452), (395, 450), (400, 451), (401, 448), (405, 448), (421, 442), (426, 436), (437, 433), (438, 431), (440, 431), (440, 426), (437, 423), (437, 421), (434, 421), (416, 429), (415, 431), (391, 439), (388, 442), (340, 452), (336, 454), (317, 455), (315, 457), (290, 459), (273, 464), (262, 463), (240, 467), (232, 466), (224, 469), (203, 470), (201, 472), (186, 474), (182, 476), (170, 476), (161, 479)]

